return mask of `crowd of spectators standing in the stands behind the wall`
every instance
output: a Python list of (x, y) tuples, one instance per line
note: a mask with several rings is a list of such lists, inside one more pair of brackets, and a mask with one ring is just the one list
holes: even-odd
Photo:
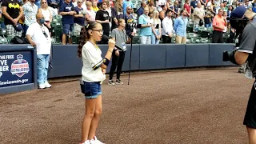
[[(62, 15), (62, 44), (72, 44), (71, 34), (79, 35), (86, 22), (102, 24), (103, 34), (110, 36), (117, 28), (118, 19), (126, 22), (126, 34), (138, 36), (141, 44), (186, 43), (187, 26), (194, 23), (196, 33), (199, 26), (212, 28), (214, 35), (230, 33), (229, 17), (237, 6), (246, 6), (256, 11), (256, 5), (248, 0), (142, 0), (134, 6), (132, 0), (2, 0), (0, 26), (6, 30), (7, 38), (25, 37), (28, 27), (36, 22), (36, 14), (44, 16), (44, 25), (50, 31), (56, 15)], [(212, 38), (212, 42), (223, 42)], [(230, 41), (233, 42), (233, 41)], [(106, 43), (106, 42), (100, 42)]]

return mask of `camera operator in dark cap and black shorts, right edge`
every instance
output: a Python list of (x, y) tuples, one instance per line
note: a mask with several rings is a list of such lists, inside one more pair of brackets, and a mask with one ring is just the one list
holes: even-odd
[[(238, 6), (230, 14), (230, 25), (239, 36), (240, 46), (232, 52), (224, 52), (223, 61), (229, 60), (237, 65), (247, 62), (246, 78), (256, 76), (256, 13)], [(241, 35), (242, 34), (242, 35)], [(243, 124), (249, 136), (250, 144), (256, 143), (256, 81), (252, 86)]]

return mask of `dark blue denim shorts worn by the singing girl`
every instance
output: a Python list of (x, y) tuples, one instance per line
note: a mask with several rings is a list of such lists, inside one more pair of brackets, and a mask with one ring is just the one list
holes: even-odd
[(85, 98), (86, 99), (93, 99), (97, 98), (98, 95), (102, 94), (102, 85), (100, 82), (83, 82), (85, 86)]

